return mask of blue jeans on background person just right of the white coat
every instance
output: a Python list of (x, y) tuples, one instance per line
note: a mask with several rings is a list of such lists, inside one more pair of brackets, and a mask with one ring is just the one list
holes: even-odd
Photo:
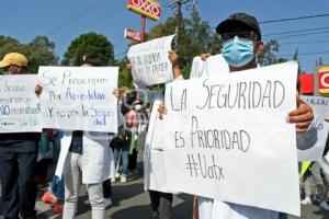
[(127, 175), (128, 172), (128, 153), (129, 153), (129, 141), (125, 141), (124, 143), (115, 143), (113, 157), (114, 164), (117, 170), (118, 159), (120, 159), (120, 150), (122, 150), (122, 174)]

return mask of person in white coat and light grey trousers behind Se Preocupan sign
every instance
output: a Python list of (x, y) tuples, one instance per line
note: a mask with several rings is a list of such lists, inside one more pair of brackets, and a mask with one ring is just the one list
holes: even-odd
[[(94, 64), (86, 59), (81, 66), (90, 67)], [(118, 125), (122, 125), (121, 116)], [(60, 157), (65, 158), (66, 162), (65, 166), (57, 166), (56, 170), (58, 176), (63, 173), (65, 182), (64, 219), (75, 218), (77, 212), (81, 173), (82, 183), (87, 185), (92, 219), (104, 219), (103, 182), (113, 174), (112, 150), (109, 147), (113, 138), (113, 134), (106, 132), (82, 130), (64, 132)]]

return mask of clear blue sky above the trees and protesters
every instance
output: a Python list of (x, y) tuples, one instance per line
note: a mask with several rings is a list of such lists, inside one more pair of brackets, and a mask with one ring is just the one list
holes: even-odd
[[(160, 0), (169, 4), (173, 0)], [(95, 31), (109, 37), (115, 46), (115, 55), (127, 49), (124, 28), (139, 30), (140, 16), (126, 9), (126, 0), (5, 0), (1, 3), (0, 34), (30, 42), (35, 35), (46, 35), (56, 44), (61, 58), (70, 42), (82, 33)], [(234, 12), (247, 12), (260, 22), (329, 13), (328, 0), (198, 0), (201, 18), (212, 26)], [(184, 15), (189, 11), (183, 10)], [(162, 8), (159, 22), (173, 14)], [(158, 22), (147, 21), (147, 30)], [(302, 69), (314, 71), (315, 60), (322, 57), (329, 65), (329, 16), (261, 24), (264, 42), (277, 39), (279, 55), (291, 59), (298, 47)], [(309, 30), (315, 31), (309, 31)], [(308, 31), (307, 31), (308, 30)], [(306, 31), (291, 35), (272, 35), (290, 31)], [(266, 36), (268, 35), (268, 36)], [(292, 36), (293, 35), (293, 36)], [(303, 55), (306, 54), (306, 55)], [(313, 55), (307, 55), (313, 54)]]

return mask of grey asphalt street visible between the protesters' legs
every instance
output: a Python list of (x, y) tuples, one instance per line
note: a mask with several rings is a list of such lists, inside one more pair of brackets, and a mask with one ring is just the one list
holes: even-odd
[[(113, 204), (106, 210), (106, 219), (148, 219), (151, 218), (151, 207), (148, 193), (144, 191), (143, 173), (135, 171), (128, 175), (128, 182), (114, 183), (112, 191)], [(83, 204), (88, 198), (84, 186), (80, 189), (80, 199), (78, 206), (77, 219), (91, 218), (90, 206)], [(60, 216), (54, 216), (50, 205), (41, 201), (38, 194), (36, 210), (38, 219), (60, 219)], [(1, 198), (0, 198), (1, 199)], [(0, 204), (1, 206), (1, 204)], [(1, 208), (1, 207), (0, 207)], [(328, 219), (329, 211), (321, 210), (318, 206), (302, 206), (302, 219)], [(0, 219), (3, 217), (0, 216)], [(172, 219), (192, 219), (192, 196), (186, 194), (178, 194), (173, 198)], [(297, 217), (290, 217), (297, 219)]]

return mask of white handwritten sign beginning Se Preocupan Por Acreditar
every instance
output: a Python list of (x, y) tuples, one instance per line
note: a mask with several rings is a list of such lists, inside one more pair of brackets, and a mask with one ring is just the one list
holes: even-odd
[(41, 67), (44, 128), (117, 132), (116, 67)]

